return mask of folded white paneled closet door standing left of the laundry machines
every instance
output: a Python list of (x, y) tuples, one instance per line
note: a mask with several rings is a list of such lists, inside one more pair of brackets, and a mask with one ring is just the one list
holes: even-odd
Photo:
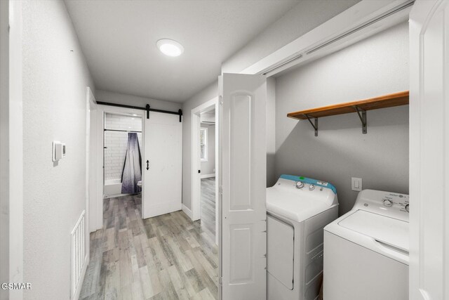
[(261, 75), (223, 74), (222, 299), (266, 299), (266, 96)]

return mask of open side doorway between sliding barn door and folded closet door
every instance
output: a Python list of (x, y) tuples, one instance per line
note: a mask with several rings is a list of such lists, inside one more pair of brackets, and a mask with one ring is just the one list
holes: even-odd
[(192, 216), (218, 244), (218, 98), (192, 110)]

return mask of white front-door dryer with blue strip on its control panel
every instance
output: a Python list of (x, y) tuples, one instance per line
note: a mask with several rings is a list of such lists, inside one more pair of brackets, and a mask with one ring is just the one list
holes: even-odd
[(268, 299), (314, 300), (323, 280), (323, 228), (338, 216), (330, 183), (282, 175), (267, 188)]

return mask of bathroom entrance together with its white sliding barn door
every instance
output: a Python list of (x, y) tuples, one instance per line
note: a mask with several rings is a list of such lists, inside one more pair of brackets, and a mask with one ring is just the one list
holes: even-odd
[(132, 198), (142, 219), (180, 210), (182, 112), (98, 102), (97, 120), (102, 193), (94, 229), (101, 228), (104, 204), (113, 198)]

